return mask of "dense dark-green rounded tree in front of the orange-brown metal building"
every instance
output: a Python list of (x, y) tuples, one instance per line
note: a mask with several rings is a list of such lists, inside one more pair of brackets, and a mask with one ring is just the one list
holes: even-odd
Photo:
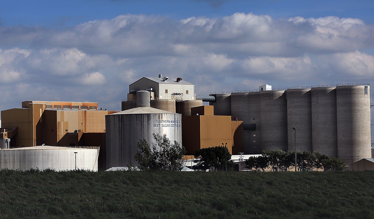
[(196, 150), (195, 157), (199, 159), (197, 165), (203, 165), (212, 168), (213, 171), (225, 170), (225, 153), (227, 160), (227, 170), (234, 168), (234, 162), (231, 159), (231, 154), (226, 147), (215, 146), (208, 148), (201, 148)]

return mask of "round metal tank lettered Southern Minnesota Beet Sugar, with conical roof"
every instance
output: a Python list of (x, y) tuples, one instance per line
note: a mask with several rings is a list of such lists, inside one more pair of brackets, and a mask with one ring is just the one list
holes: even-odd
[(182, 144), (182, 115), (151, 107), (138, 107), (105, 116), (107, 169), (135, 161), (140, 139), (153, 143), (153, 133), (166, 134)]

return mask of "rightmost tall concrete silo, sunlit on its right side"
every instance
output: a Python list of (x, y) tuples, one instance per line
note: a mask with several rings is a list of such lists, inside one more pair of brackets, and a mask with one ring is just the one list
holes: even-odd
[(338, 158), (345, 164), (371, 158), (370, 86), (336, 87)]

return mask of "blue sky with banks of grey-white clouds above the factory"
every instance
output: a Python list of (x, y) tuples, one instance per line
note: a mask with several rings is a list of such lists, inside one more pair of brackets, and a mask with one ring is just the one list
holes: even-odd
[(195, 93), (374, 84), (374, 1), (64, 0), (1, 3), (0, 110), (25, 100), (120, 110), (142, 76)]

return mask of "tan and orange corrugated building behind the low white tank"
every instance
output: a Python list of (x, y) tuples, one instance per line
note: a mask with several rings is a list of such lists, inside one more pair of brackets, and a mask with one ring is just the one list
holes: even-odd
[(105, 115), (118, 111), (97, 110), (97, 105), (88, 102), (24, 101), (22, 108), (1, 111), (1, 126), (8, 130), (18, 127), (18, 133), (10, 140), (10, 147), (42, 144), (99, 146), (105, 142), (102, 142)]

